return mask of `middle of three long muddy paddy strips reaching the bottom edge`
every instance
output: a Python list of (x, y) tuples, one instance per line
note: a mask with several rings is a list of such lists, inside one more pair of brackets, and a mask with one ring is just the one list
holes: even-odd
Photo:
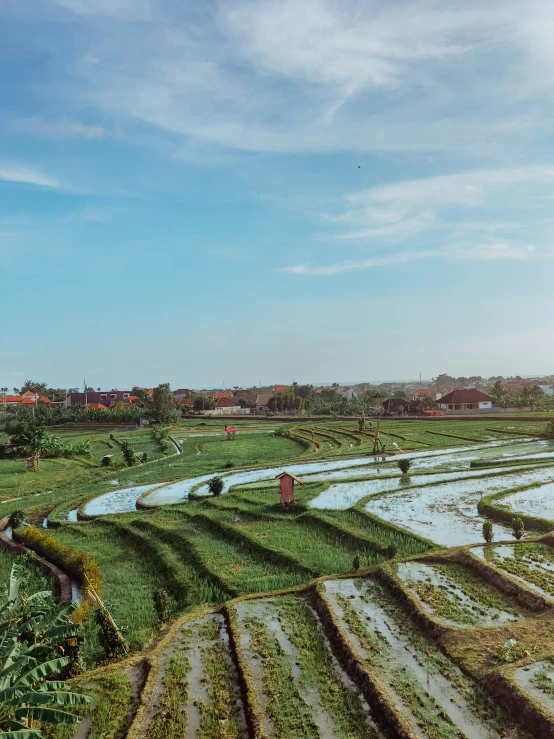
[(339, 666), (303, 598), (236, 606), (241, 645), (269, 737), (377, 739), (371, 711)]

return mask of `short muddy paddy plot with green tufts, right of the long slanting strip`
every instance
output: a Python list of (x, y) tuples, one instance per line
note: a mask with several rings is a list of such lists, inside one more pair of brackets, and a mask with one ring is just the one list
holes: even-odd
[(455, 626), (510, 623), (529, 613), (458, 564), (403, 562), (396, 573), (423, 608), (435, 619)]

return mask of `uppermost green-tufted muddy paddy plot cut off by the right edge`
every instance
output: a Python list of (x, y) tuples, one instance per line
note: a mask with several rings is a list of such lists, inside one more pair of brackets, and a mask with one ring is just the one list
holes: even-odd
[(547, 598), (554, 598), (554, 549), (539, 542), (473, 547), (473, 554)]

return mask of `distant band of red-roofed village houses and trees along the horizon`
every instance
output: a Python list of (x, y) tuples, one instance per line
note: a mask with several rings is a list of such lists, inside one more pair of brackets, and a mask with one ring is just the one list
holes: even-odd
[[(431, 381), (359, 383), (352, 386), (273, 385), (260, 388), (171, 390), (175, 415), (432, 415), (479, 414), (502, 410), (533, 410), (554, 405), (554, 376), (482, 378), (439, 375)], [(162, 387), (162, 386), (160, 386)], [(125, 412), (147, 408), (154, 388), (102, 390), (84, 385), (54, 389), (27, 381), (18, 391), (0, 388), (0, 411), (17, 408), (68, 408), (96, 412)]]

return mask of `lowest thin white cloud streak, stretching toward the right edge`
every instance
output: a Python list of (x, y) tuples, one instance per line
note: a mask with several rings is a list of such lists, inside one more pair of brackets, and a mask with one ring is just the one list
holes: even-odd
[(490, 244), (481, 244), (479, 246), (460, 248), (460, 249), (443, 249), (437, 251), (400, 251), (393, 254), (371, 257), (358, 262), (337, 262), (325, 266), (308, 266), (295, 265), (285, 267), (284, 272), (290, 272), (295, 275), (337, 275), (343, 272), (358, 272), (361, 270), (372, 269), (374, 267), (383, 267), (387, 265), (407, 264), (409, 262), (418, 262), (422, 259), (435, 260), (479, 260), (491, 261), (501, 259), (519, 259), (527, 260), (535, 253), (535, 247), (531, 244), (514, 245), (505, 242), (496, 242)]

